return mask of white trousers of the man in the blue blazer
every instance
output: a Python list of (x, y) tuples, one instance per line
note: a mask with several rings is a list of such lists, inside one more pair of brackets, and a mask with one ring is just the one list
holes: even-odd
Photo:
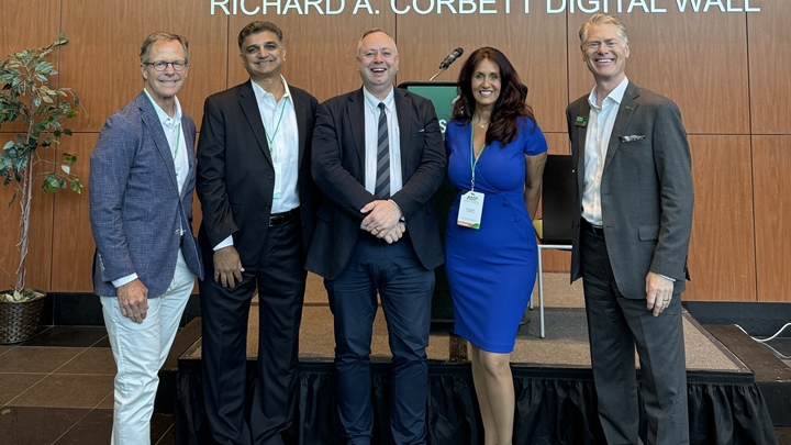
[(148, 312), (137, 324), (121, 314), (118, 298), (101, 297), (104, 324), (118, 367), (115, 375), (112, 445), (149, 445), (151, 418), (165, 364), (187, 305), (194, 274), (179, 249), (170, 287), (148, 299)]

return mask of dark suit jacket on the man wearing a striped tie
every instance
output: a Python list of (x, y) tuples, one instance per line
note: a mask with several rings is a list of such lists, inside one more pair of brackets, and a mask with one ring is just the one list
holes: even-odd
[[(390, 199), (403, 212), (417, 258), (431, 270), (445, 262), (431, 197), (445, 179), (447, 158), (432, 102), (399, 88), (394, 100), (403, 188)], [(365, 189), (364, 105), (360, 88), (327, 100), (316, 112), (313, 178), (324, 200), (305, 268), (327, 279), (346, 267), (360, 232), (360, 209), (376, 200)]]

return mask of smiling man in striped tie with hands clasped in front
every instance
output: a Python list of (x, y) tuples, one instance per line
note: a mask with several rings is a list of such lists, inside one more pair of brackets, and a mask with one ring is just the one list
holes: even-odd
[(305, 267), (324, 277), (335, 316), (335, 394), (348, 444), (370, 444), (370, 342), (377, 291), (393, 354), (397, 444), (425, 444), (434, 268), (443, 249), (431, 197), (446, 157), (432, 103), (393, 88), (396, 42), (370, 30), (357, 46), (364, 87), (319, 105), (313, 177), (325, 199)]

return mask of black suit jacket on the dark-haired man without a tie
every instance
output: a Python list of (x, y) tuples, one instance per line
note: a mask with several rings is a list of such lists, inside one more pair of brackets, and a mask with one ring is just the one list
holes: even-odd
[[(289, 86), (299, 131), (299, 199), (305, 254), (321, 201), (310, 173), (311, 141), (319, 102)], [(199, 241), (203, 260), (233, 235), (242, 265), (257, 264), (269, 230), (275, 167), (252, 80), (205, 100), (198, 142), (198, 198), (203, 221)]]

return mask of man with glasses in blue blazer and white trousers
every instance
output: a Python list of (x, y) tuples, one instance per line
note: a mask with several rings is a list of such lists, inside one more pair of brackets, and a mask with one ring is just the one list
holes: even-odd
[(107, 120), (90, 165), (93, 291), (118, 366), (114, 445), (151, 443), (157, 372), (203, 278), (190, 229), (196, 126), (176, 98), (188, 43), (155, 33), (140, 57), (144, 89)]

